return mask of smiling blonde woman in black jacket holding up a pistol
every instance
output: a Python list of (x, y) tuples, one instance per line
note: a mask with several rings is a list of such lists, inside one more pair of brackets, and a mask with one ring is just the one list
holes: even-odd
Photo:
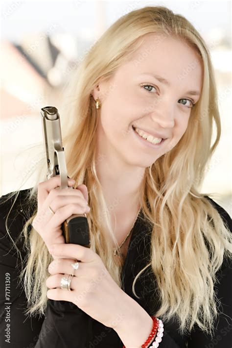
[[(63, 144), (76, 190), (55, 190), (56, 176), (16, 192), (23, 214), (9, 231), (15, 242), (23, 230), (23, 267), (14, 273), (21, 294), (11, 288), (11, 339), (36, 348), (229, 347), (231, 219), (198, 189), (221, 133), (201, 35), (166, 7), (132, 11), (95, 43), (67, 93)], [(6, 274), (20, 256), (6, 255), (3, 198)], [(84, 212), (91, 248), (64, 244), (61, 223)], [(68, 274), (72, 291), (61, 288)], [(2, 312), (3, 302), (5, 293)]]

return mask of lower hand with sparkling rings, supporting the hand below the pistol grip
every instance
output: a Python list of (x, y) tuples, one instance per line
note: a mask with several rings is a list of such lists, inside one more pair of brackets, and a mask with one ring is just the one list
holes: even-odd
[[(108, 273), (100, 256), (78, 244), (55, 244), (49, 251), (59, 258), (48, 267), (51, 276), (46, 279), (46, 286), (50, 289), (47, 297), (70, 301), (93, 319), (115, 328), (124, 318), (128, 295)], [(71, 263), (76, 260), (80, 260), (79, 268), (74, 271)], [(61, 278), (73, 272), (71, 291), (61, 289)]]

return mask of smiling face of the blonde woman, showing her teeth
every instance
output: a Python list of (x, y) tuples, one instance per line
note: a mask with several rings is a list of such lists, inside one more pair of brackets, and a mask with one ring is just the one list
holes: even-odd
[[(203, 83), (203, 65), (196, 51), (183, 41), (164, 36), (154, 49), (157, 35), (146, 35), (133, 59), (109, 81), (99, 83), (99, 91), (93, 91), (93, 98), (102, 103), (98, 148), (107, 149), (128, 165), (145, 168), (180, 141)], [(133, 126), (139, 128), (140, 135)], [(141, 137), (149, 134), (148, 140)], [(160, 138), (167, 139), (151, 144)]]

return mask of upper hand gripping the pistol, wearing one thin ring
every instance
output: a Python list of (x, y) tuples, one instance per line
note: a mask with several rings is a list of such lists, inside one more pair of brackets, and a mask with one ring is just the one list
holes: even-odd
[[(78, 188), (73, 189), (73, 184), (74, 182), (68, 178), (70, 187), (61, 189), (60, 175), (56, 175), (38, 185), (38, 211), (32, 226), (43, 238), (48, 249), (53, 243), (65, 244), (61, 225), (66, 219), (72, 214), (90, 211), (86, 185), (78, 185)], [(48, 209), (48, 205), (55, 212), (54, 215)]]

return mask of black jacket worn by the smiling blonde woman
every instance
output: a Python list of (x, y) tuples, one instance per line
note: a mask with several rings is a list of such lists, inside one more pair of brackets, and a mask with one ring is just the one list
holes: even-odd
[[(19, 197), (10, 213), (8, 228), (16, 241), (25, 223), (23, 204), (29, 189), (20, 191)], [(7, 195), (2, 196), (6, 198)], [(0, 198), (0, 203), (2, 201)], [(232, 220), (229, 214), (215, 201), (210, 202), (218, 210), (225, 224), (232, 231)], [(48, 299), (45, 317), (26, 317), (26, 298), (23, 288), (18, 284), (20, 258), (6, 233), (5, 219), (13, 200), (0, 205), (0, 348), (122, 348), (123, 343), (116, 331), (97, 322), (71, 302)], [(139, 215), (140, 217), (140, 215)], [(149, 260), (149, 241), (151, 231), (137, 218), (134, 224), (127, 257), (123, 266), (122, 289), (149, 315), (152, 308), (158, 309), (160, 299), (155, 288), (151, 286), (148, 274), (151, 267), (139, 277), (135, 290), (138, 299), (132, 292), (132, 283), (136, 274)], [(23, 250), (23, 238), (17, 241)], [(24, 251), (22, 256), (25, 257)], [(221, 314), (214, 323), (214, 337), (203, 333), (197, 326), (190, 336), (182, 336), (178, 331), (178, 323), (173, 319), (164, 322), (161, 348), (229, 348), (232, 347), (232, 267), (231, 260), (224, 258), (217, 273), (219, 283), (215, 284), (217, 297), (221, 300)], [(10, 280), (10, 287), (9, 287)], [(8, 282), (7, 282), (8, 281)], [(155, 296), (155, 297), (154, 297)], [(9, 298), (8, 298), (9, 297)], [(7, 334), (10, 339), (7, 342)]]

